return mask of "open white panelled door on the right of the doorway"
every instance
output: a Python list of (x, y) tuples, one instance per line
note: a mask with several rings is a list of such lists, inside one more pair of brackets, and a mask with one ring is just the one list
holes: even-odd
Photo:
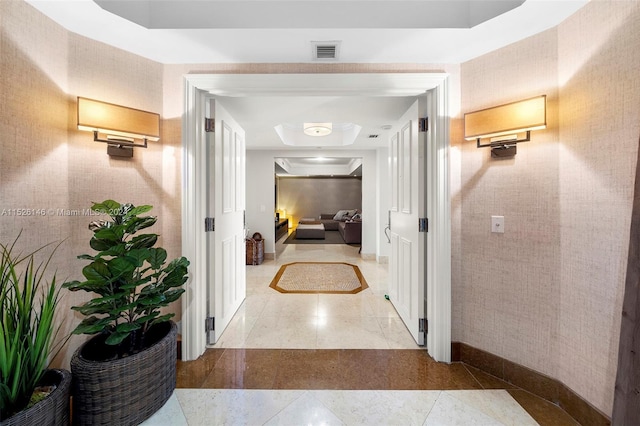
[[(421, 104), (422, 103), (422, 104)], [(426, 218), (425, 144), (419, 129), (425, 101), (416, 102), (391, 129), (389, 141), (391, 253), (389, 299), (419, 345), (425, 344)]]

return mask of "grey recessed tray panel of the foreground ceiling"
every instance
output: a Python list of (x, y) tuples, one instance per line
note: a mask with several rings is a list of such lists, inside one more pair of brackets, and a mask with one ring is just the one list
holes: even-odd
[(471, 28), (524, 0), (94, 0), (145, 28)]

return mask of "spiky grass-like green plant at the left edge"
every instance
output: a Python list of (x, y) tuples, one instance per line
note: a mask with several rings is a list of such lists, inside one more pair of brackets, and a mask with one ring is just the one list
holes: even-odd
[(42, 379), (57, 334), (55, 311), (59, 291), (55, 274), (46, 280), (48, 258), (37, 263), (35, 254), (14, 254), (20, 235), (10, 245), (0, 244), (0, 419), (29, 404)]

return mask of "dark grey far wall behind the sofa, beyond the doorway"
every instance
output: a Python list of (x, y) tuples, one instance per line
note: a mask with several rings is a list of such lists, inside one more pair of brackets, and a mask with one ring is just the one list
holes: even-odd
[(362, 180), (332, 177), (280, 177), (278, 205), (292, 216), (292, 224), (301, 217), (318, 218), (321, 213), (362, 209)]

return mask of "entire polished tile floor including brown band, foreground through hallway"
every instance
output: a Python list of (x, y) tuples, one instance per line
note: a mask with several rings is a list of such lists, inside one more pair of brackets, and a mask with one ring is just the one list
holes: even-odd
[[(281, 240), (282, 241), (282, 240)], [(357, 265), (357, 294), (281, 294), (282, 264)], [(247, 298), (219, 341), (178, 362), (147, 425), (576, 425), (557, 406), (462, 363), (433, 361), (384, 298), (388, 265), (347, 245), (278, 244), (247, 266)]]

